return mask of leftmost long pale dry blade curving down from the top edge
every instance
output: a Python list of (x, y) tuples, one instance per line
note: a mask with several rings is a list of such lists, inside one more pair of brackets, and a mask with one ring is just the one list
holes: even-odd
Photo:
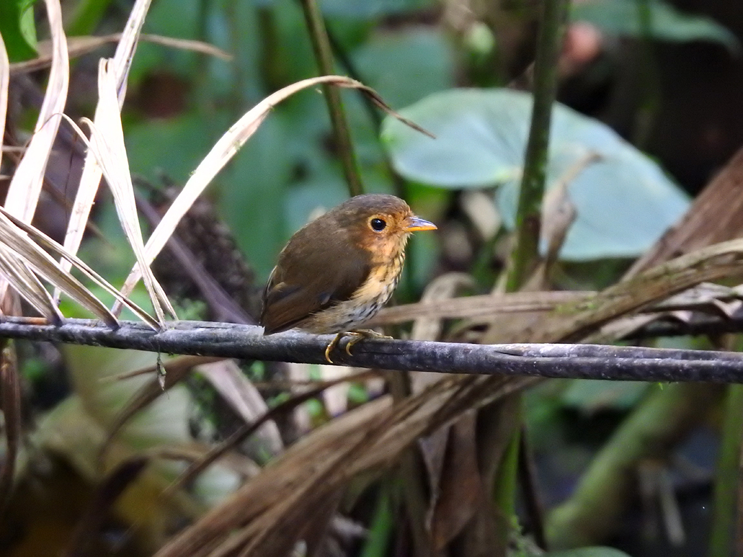
[[(5, 198), (5, 209), (22, 221), (30, 222), (42, 191), (52, 144), (67, 102), (69, 59), (67, 41), (62, 29), (62, 9), (59, 0), (46, 0), (49, 27), (53, 43), (53, 59), (47, 91), (39, 119), (24, 157), (16, 169)], [(4, 290), (4, 288), (2, 289)]]

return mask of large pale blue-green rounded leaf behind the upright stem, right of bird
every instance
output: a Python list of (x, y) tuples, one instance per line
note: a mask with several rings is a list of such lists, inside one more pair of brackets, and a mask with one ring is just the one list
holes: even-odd
[[(402, 111), (435, 140), (391, 118), (382, 139), (395, 169), (410, 180), (450, 189), (500, 186), (496, 203), (513, 228), (531, 104), (530, 94), (506, 89), (443, 91)], [(611, 128), (556, 104), (547, 188), (592, 153), (600, 160), (568, 186), (577, 220), (561, 256), (583, 261), (639, 255), (684, 213), (687, 195)]]

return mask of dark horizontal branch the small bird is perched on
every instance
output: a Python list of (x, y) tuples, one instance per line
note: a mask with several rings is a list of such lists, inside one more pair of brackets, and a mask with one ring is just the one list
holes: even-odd
[[(6, 318), (0, 337), (129, 348), (166, 354), (323, 364), (333, 336), (289, 331), (263, 336), (262, 328), (181, 321), (163, 331), (139, 322), (113, 330), (90, 319), (39, 325), (38, 319)], [(603, 380), (743, 382), (743, 354), (603, 345), (473, 345), (366, 339), (353, 355), (337, 349), (338, 365), (397, 371), (519, 375)]]

